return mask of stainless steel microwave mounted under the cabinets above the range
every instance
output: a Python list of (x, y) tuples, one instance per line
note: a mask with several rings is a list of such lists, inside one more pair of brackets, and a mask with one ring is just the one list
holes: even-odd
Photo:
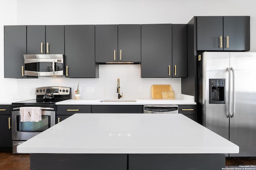
[(25, 76), (63, 76), (62, 54), (28, 54), (24, 55)]

